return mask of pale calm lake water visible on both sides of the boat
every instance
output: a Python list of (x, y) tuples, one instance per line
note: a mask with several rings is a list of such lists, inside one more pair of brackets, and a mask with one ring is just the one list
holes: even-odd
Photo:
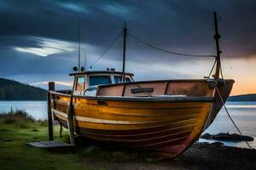
[[(227, 108), (236, 125), (244, 135), (252, 136), (256, 140), (256, 102), (227, 102)], [(24, 110), (35, 119), (47, 119), (46, 101), (0, 101), (0, 112), (10, 109)], [(205, 133), (238, 133), (224, 109), (222, 109), (214, 122), (207, 128)], [(201, 142), (213, 142), (200, 139)], [(247, 147), (245, 142), (225, 142), (226, 145)], [(256, 141), (249, 142), (256, 149)]]

